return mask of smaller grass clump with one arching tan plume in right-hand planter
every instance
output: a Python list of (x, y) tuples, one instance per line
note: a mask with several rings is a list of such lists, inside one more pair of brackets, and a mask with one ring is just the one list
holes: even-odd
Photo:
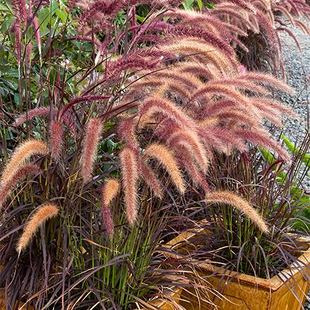
[[(214, 274), (227, 273), (223, 279), (227, 285), (241, 273), (269, 279), (291, 264), (309, 280), (309, 266), (299, 259), (309, 247), (310, 197), (302, 185), (309, 176), (309, 164), (304, 163), (309, 146), (307, 132), (295, 146), (289, 168), (259, 147), (247, 153), (216, 155), (216, 164), (209, 170), (213, 191), (200, 202), (192, 197), (195, 203), (183, 214), (183, 221), (172, 224), (195, 234), (180, 242), (179, 247), (187, 243), (191, 249), (181, 260), (196, 265), (212, 261), (218, 268)], [(177, 253), (172, 250), (172, 254)]]

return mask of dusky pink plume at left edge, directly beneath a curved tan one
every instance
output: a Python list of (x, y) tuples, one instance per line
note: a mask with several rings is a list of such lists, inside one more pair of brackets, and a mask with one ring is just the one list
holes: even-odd
[(27, 176), (36, 176), (39, 173), (41, 173), (41, 169), (37, 164), (24, 164), (22, 167), (15, 170), (15, 172), (6, 179), (6, 182), (2, 183), (0, 186), (0, 209), (3, 207), (4, 202), (6, 202), (11, 195), (13, 188), (15, 188), (18, 182), (21, 182)]

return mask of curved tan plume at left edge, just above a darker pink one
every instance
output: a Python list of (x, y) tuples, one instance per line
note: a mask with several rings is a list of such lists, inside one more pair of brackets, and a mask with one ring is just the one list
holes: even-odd
[(17, 170), (22, 167), (32, 155), (47, 155), (48, 148), (42, 141), (30, 139), (18, 146), (9, 160), (1, 176), (1, 185), (4, 185)]

